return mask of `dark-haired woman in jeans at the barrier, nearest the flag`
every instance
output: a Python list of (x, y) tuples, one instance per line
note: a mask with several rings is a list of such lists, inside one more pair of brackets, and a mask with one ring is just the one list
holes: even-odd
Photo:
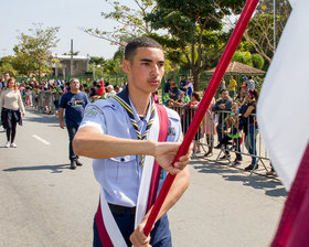
[(252, 163), (245, 168), (245, 171), (251, 171), (253, 169), (258, 169), (256, 163), (256, 136), (258, 133), (258, 126), (256, 120), (256, 103), (258, 100), (258, 93), (255, 89), (248, 89), (246, 101), (247, 109), (244, 114), (246, 121), (243, 122), (243, 129), (245, 133), (245, 146), (249, 154), (252, 154)]

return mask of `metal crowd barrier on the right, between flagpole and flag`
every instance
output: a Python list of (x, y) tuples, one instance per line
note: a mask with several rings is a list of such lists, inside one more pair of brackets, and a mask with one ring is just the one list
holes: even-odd
[[(182, 131), (185, 135), (196, 109), (188, 105), (169, 106), (169, 108), (179, 114)], [(249, 169), (252, 173), (258, 168), (258, 164), (269, 171), (270, 161), (258, 131), (255, 114), (251, 114), (245, 118), (243, 115), (233, 114), (232, 111), (212, 112), (207, 110), (193, 142), (195, 154), (203, 150), (204, 155), (207, 157), (216, 148), (220, 150), (215, 159), (216, 162), (222, 158), (231, 161), (230, 153), (232, 152), (235, 154), (234, 165), (239, 164), (243, 161), (243, 157), (247, 157), (251, 159), (248, 164), (253, 164), (253, 169)]]

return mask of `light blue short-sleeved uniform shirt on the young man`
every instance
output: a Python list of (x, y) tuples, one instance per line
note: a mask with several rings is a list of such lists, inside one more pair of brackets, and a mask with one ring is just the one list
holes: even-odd
[[(135, 120), (142, 135), (150, 118), (151, 107), (148, 107), (148, 112), (143, 120), (139, 118), (132, 104), (131, 108)], [(178, 142), (182, 137), (179, 115), (169, 108), (166, 109), (169, 118), (167, 141)], [(87, 105), (79, 128), (85, 126), (95, 127), (105, 135), (126, 139), (138, 139), (127, 111), (114, 98), (99, 99)], [(119, 146), (119, 149), (121, 149), (121, 146)], [(104, 150), (102, 151), (104, 152)], [(140, 155), (94, 159), (94, 174), (98, 183), (103, 186), (105, 198), (108, 203), (130, 207), (136, 206), (142, 174), (142, 167), (140, 167), (139, 160)], [(164, 171), (160, 176), (159, 190), (166, 176), (167, 172)]]

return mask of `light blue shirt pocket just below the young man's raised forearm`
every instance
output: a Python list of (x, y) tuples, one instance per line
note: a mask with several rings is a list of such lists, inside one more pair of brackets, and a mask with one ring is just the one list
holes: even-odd
[(131, 178), (135, 172), (136, 155), (124, 155), (107, 159), (106, 178), (114, 182), (121, 182), (125, 178)]

